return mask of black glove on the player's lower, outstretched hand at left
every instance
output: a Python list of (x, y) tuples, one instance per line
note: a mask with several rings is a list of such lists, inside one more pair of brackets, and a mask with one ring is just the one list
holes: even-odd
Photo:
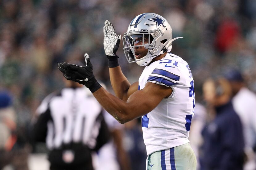
[(69, 63), (59, 63), (58, 66), (58, 69), (63, 73), (63, 76), (67, 80), (72, 80), (85, 85), (85, 87), (89, 88), (92, 93), (101, 87), (93, 75), (93, 65), (90, 62), (87, 53), (85, 53), (84, 67)]

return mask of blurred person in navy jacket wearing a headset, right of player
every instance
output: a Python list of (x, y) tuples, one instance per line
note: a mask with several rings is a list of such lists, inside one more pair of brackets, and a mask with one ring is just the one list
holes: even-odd
[(216, 117), (202, 135), (202, 170), (242, 170), (244, 138), (242, 123), (233, 109), (231, 87), (225, 79), (209, 79), (203, 84), (204, 98), (216, 111)]

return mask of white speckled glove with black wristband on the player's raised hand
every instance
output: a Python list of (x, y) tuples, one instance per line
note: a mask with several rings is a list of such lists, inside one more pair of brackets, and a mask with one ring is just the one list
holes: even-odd
[(109, 68), (117, 67), (119, 66), (119, 64), (118, 64), (118, 56), (116, 55), (116, 52), (119, 48), (121, 35), (119, 34), (117, 36), (114, 26), (109, 20), (105, 21), (103, 32), (104, 32), (103, 45), (104, 45), (105, 54), (107, 55), (109, 60)]

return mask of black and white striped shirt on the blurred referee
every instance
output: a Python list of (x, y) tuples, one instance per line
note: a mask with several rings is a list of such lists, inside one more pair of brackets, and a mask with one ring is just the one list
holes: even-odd
[(52, 93), (37, 109), (34, 139), (46, 141), (50, 150), (69, 143), (82, 143), (97, 150), (109, 139), (101, 111), (87, 88), (64, 88)]

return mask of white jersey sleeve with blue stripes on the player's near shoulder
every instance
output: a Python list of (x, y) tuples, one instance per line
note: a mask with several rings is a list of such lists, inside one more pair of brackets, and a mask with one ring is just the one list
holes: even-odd
[(151, 72), (147, 82), (173, 87), (180, 83), (180, 75), (180, 70), (177, 67), (165, 67), (164, 64), (161, 64)]

